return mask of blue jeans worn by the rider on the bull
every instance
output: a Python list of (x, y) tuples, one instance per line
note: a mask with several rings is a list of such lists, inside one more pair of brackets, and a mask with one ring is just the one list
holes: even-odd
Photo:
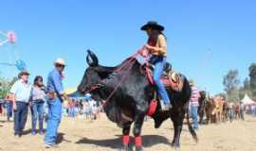
[(166, 57), (163, 56), (153, 56), (150, 59), (150, 62), (155, 64), (154, 69), (154, 82), (157, 87), (157, 92), (160, 94), (161, 99), (164, 101), (164, 104), (169, 105), (170, 104), (170, 98), (168, 96), (168, 93), (166, 92), (166, 89), (161, 81), (161, 76), (163, 74), (163, 68), (166, 63)]

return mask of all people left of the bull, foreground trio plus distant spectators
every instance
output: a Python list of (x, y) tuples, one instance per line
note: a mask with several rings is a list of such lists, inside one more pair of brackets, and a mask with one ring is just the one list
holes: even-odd
[(99, 118), (101, 109), (90, 94), (86, 94), (86, 100), (79, 101), (66, 97), (63, 86), (64, 67), (64, 59), (56, 59), (54, 69), (47, 76), (46, 86), (42, 76), (36, 76), (33, 84), (30, 84), (27, 70), (19, 73), (18, 80), (11, 86), (6, 98), (0, 101), (0, 112), (7, 115), (7, 121), (13, 121), (14, 136), (20, 138), (24, 134), (28, 112), (31, 113), (31, 134), (45, 135), (47, 148), (56, 145), (58, 127), (63, 116), (82, 115), (92, 120)]

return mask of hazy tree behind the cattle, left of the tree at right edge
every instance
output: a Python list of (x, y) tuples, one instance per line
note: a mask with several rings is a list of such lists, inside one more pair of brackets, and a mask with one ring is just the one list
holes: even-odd
[(239, 101), (239, 78), (237, 70), (230, 70), (229, 73), (224, 76), (223, 85), (229, 101)]

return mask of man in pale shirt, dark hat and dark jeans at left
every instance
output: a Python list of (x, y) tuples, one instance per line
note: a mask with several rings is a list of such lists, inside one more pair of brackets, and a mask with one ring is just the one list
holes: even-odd
[(27, 107), (31, 96), (31, 85), (28, 83), (29, 73), (24, 70), (18, 77), (19, 79), (10, 89), (9, 98), (14, 110), (14, 135), (22, 136), (23, 129), (27, 123)]

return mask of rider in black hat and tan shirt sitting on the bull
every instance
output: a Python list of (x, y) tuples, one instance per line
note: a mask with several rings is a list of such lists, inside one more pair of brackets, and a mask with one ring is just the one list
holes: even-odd
[(169, 110), (172, 108), (171, 101), (162, 81), (160, 80), (167, 57), (166, 36), (162, 33), (164, 26), (151, 21), (146, 25), (143, 25), (140, 29), (146, 31), (149, 36), (145, 48), (151, 54), (150, 62), (155, 65), (153, 78), (157, 87), (157, 92), (163, 100), (162, 110)]

